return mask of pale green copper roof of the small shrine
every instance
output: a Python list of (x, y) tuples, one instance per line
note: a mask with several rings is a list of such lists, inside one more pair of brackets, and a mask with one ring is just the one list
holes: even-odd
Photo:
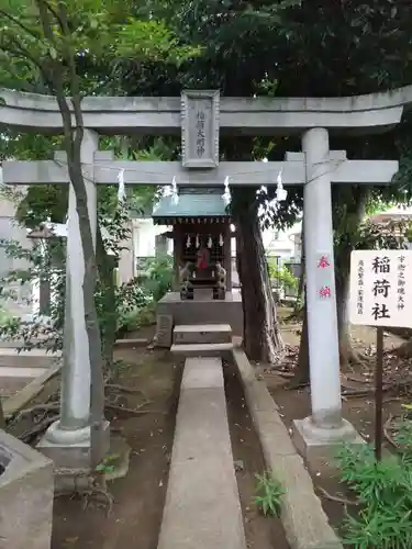
[(163, 197), (154, 206), (154, 219), (171, 217), (227, 217), (226, 204), (221, 194), (179, 194), (179, 202), (172, 203), (172, 197)]

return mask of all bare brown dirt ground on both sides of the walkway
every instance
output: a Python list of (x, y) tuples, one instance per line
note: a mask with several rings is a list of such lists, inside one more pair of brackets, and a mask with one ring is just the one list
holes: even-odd
[[(285, 316), (281, 311), (280, 316)], [(309, 389), (287, 390), (297, 359), (301, 326), (283, 325), (282, 335), (288, 346), (285, 367), (279, 370), (259, 365), (268, 388), (279, 405), (279, 412), (288, 428), (292, 421), (310, 414)], [(132, 338), (153, 337), (153, 327), (130, 334)], [(343, 413), (355, 428), (366, 438), (374, 437), (374, 370), (375, 330), (367, 327), (353, 329), (355, 347), (365, 357), (363, 366), (342, 376)], [(399, 361), (391, 350), (403, 340), (387, 334), (385, 337), (385, 380), (391, 383), (405, 377), (412, 378), (412, 361)], [(116, 405), (135, 408), (144, 404), (138, 415), (109, 411), (113, 433), (121, 434), (132, 448), (130, 470), (124, 479), (109, 484), (114, 496), (112, 513), (107, 517), (104, 509), (93, 502), (83, 508), (83, 502), (58, 497), (54, 509), (54, 531), (52, 549), (155, 549), (162, 522), (167, 490), (168, 469), (172, 448), (176, 411), (182, 372), (182, 361), (169, 352), (148, 350), (146, 347), (123, 347), (115, 352), (116, 377), (112, 381), (142, 393), (124, 393)], [(53, 383), (58, 384), (55, 379)], [(394, 383), (396, 384), (396, 383)], [(288, 549), (285, 533), (278, 519), (265, 518), (254, 505), (256, 473), (264, 472), (264, 459), (258, 437), (247, 412), (243, 389), (236, 372), (225, 368), (225, 390), (231, 439), (236, 467), (236, 478), (244, 515), (245, 533), (249, 548)], [(354, 396), (354, 391), (364, 395)], [(346, 394), (345, 394), (346, 393)], [(412, 402), (412, 396), (399, 391), (387, 391), (383, 421), (402, 414), (401, 404)], [(38, 403), (38, 399), (35, 401)], [(26, 421), (24, 428), (27, 428)], [(21, 426), (16, 429), (21, 432)], [(388, 445), (389, 448), (389, 445)], [(345, 488), (336, 478), (323, 471), (313, 477), (315, 486), (321, 486), (332, 495), (346, 496)], [(338, 527), (344, 507), (331, 502), (320, 492), (331, 523)]]

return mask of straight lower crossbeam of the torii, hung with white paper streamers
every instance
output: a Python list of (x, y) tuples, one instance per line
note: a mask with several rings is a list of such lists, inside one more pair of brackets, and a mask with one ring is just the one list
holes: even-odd
[[(103, 154), (102, 154), (103, 153)], [(281, 171), (285, 186), (304, 184), (305, 167), (302, 153), (287, 155), (286, 161), (227, 161), (214, 169), (187, 169), (180, 163), (111, 160), (109, 154), (99, 152), (93, 165), (83, 165), (83, 175), (98, 184), (116, 184), (121, 170), (125, 184), (223, 186), (226, 178), (231, 187), (277, 184)], [(58, 160), (3, 163), (5, 184), (67, 184), (68, 170), (60, 155)], [(62, 160), (60, 160), (62, 158)], [(343, 152), (331, 152), (331, 179), (333, 183), (388, 184), (399, 169), (397, 160), (345, 160)]]

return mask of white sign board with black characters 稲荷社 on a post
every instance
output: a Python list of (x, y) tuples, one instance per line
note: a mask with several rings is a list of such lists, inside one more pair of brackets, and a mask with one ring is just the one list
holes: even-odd
[(350, 255), (353, 324), (412, 327), (412, 251), (356, 250)]

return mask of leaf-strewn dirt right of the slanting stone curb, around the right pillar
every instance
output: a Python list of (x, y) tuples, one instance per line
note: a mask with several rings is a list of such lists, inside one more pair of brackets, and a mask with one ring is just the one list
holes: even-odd
[[(300, 340), (300, 325), (282, 327), (283, 340), (288, 346), (288, 360), (285, 371), (279, 376), (274, 369), (259, 368), (264, 372), (264, 378), (268, 384), (269, 391), (279, 405), (279, 413), (290, 429), (293, 419), (300, 419), (310, 415), (310, 390), (309, 388), (300, 390), (287, 390), (290, 374), (297, 360), (298, 346)], [(363, 365), (359, 365), (350, 371), (342, 374), (343, 392), (343, 415), (350, 422), (361, 436), (372, 444), (375, 434), (375, 403), (374, 403), (374, 372), (376, 365), (376, 330), (365, 326), (354, 326), (352, 337), (355, 349), (366, 357)], [(391, 417), (399, 417), (404, 413), (402, 403), (412, 402), (412, 395), (408, 395), (404, 389), (398, 386), (398, 383), (405, 377), (412, 379), (412, 361), (400, 360), (391, 352), (393, 348), (400, 346), (404, 340), (391, 334), (385, 335), (385, 374), (383, 382), (393, 389), (385, 392), (383, 397), (383, 422)], [(412, 385), (412, 383), (411, 383)], [(356, 396), (356, 392), (363, 392)], [(390, 451), (392, 446), (385, 439), (385, 448)], [(339, 483), (338, 475), (331, 475), (330, 470), (319, 470), (313, 474), (314, 485), (321, 486), (333, 496), (349, 498), (350, 495), (344, 485)], [(331, 519), (331, 524), (338, 528), (344, 517), (344, 505), (331, 501), (319, 491), (322, 504)], [(352, 497), (353, 498), (353, 497)]]

